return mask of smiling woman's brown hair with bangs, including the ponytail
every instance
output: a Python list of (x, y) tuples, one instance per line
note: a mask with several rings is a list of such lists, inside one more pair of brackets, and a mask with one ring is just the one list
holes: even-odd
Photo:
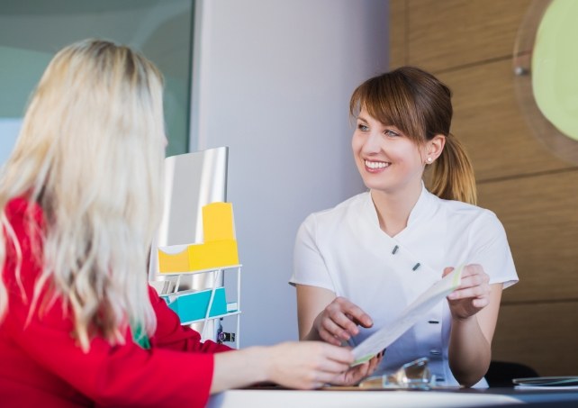
[(474, 168), (464, 146), (449, 132), (453, 108), (451, 90), (438, 78), (415, 67), (402, 67), (366, 80), (351, 95), (349, 113), (361, 109), (379, 122), (391, 124), (422, 145), (434, 136), (446, 137), (432, 165), (429, 190), (440, 198), (476, 203)]

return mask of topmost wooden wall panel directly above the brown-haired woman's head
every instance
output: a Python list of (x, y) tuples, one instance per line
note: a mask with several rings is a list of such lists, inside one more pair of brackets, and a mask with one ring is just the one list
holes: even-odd
[(510, 58), (528, 5), (528, 0), (409, 0), (408, 61), (437, 72)]

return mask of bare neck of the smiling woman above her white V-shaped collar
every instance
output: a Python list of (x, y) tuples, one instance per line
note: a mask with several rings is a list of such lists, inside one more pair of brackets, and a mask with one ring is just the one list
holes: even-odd
[(419, 188), (412, 187), (402, 192), (371, 190), (370, 193), (379, 219), (379, 227), (387, 235), (394, 237), (407, 227), (411, 210), (420, 198), (421, 185)]

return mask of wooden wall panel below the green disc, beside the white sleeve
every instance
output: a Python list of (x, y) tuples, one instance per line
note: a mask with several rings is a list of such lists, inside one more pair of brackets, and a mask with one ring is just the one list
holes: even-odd
[(480, 205), (504, 225), (520, 279), (502, 301), (578, 301), (578, 169), (478, 190)]

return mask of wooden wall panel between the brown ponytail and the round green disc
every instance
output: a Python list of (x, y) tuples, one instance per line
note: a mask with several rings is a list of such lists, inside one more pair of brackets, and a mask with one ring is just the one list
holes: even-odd
[(514, 92), (511, 60), (438, 77), (453, 90), (452, 132), (464, 141), (477, 180), (567, 168), (528, 127)]

